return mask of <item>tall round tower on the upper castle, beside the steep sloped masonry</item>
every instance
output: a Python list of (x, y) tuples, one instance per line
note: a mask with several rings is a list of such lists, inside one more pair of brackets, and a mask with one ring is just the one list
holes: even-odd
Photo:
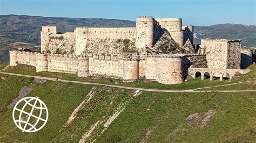
[(136, 20), (136, 47), (143, 51), (145, 47), (152, 48), (154, 41), (154, 19), (149, 16), (138, 17)]

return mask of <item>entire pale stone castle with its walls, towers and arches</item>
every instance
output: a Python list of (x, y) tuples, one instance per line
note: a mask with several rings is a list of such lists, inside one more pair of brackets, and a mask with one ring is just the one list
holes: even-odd
[(183, 26), (181, 18), (148, 16), (137, 18), (136, 27), (76, 27), (64, 34), (57, 33), (56, 26), (43, 26), (41, 53), (10, 51), (10, 66), (177, 84), (198, 72), (202, 77), (208, 73), (211, 80), (213, 76), (232, 78), (237, 72), (247, 73), (240, 67), (255, 61), (255, 49), (241, 50), (241, 40), (203, 39), (196, 49), (193, 32), (194, 27)]

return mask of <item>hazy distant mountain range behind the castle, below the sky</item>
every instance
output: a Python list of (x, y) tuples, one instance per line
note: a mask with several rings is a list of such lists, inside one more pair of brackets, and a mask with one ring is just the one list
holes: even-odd
[[(75, 27), (78, 26), (135, 27), (136, 22), (102, 18), (55, 18), (0, 15), (0, 63), (9, 60), (8, 50), (17, 47), (18, 43), (30, 43), (29, 46), (31, 46), (31, 44), (39, 45), (41, 27), (45, 25), (55, 25), (57, 26), (57, 32), (64, 33), (72, 32)], [(223, 38), (242, 39), (242, 46), (256, 46), (256, 26), (240, 24), (196, 26), (194, 28), (194, 37), (195, 44), (199, 44), (202, 38)], [(21, 46), (26, 45), (22, 43)]]

